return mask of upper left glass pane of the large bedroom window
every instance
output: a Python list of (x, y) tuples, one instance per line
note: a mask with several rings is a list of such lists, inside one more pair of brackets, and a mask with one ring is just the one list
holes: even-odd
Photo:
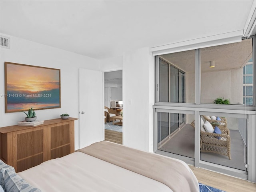
[(159, 101), (195, 103), (195, 50), (159, 58)]

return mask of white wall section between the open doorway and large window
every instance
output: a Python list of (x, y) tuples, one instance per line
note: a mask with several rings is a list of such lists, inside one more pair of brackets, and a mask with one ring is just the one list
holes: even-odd
[(154, 58), (149, 48), (124, 53), (123, 144), (153, 151)]

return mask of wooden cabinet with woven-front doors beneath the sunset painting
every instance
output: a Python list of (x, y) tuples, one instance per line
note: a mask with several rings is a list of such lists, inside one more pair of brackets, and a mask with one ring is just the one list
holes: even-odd
[(21, 172), (74, 152), (74, 120), (45, 120), (38, 126), (0, 128), (0, 158)]

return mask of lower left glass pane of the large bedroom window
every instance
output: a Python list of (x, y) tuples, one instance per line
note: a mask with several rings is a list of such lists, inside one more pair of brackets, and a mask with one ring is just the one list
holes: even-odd
[(194, 115), (158, 112), (158, 150), (194, 158)]

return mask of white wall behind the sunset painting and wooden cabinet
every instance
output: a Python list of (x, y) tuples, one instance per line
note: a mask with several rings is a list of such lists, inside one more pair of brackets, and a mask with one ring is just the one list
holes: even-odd
[[(71, 117), (79, 117), (78, 103), (78, 69), (87, 68), (100, 70), (97, 60), (68, 52), (65, 50), (45, 46), (21, 38), (10, 37), (10, 49), (0, 48), (0, 95), (4, 94), (4, 62), (28, 64), (60, 69), (61, 77), (61, 108), (36, 110), (36, 116), (41, 120), (59, 118), (62, 113), (69, 113)], [(24, 120), (24, 113), (5, 113), (4, 97), (0, 97), (0, 126), (10, 126)], [(79, 144), (79, 120), (75, 121), (75, 148)]]

